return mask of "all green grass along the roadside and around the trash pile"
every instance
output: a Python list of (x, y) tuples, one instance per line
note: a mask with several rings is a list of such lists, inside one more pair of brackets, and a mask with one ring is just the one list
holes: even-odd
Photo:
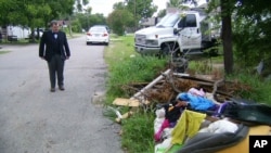
[[(133, 82), (150, 82), (164, 72), (166, 61), (154, 56), (141, 56), (133, 50), (133, 37), (113, 36), (112, 43), (105, 49), (104, 59), (108, 65), (108, 76), (106, 79), (106, 104), (112, 105), (116, 98), (130, 98), (137, 91), (127, 90), (125, 86)], [(211, 74), (215, 69), (210, 64), (223, 65), (223, 58), (216, 56), (205, 60), (190, 61), (189, 69), (198, 74)], [(221, 69), (220, 69), (221, 71)], [(223, 73), (216, 72), (216, 73)], [(222, 74), (223, 75), (223, 74)], [(249, 85), (250, 90), (241, 89), (244, 99), (254, 100), (259, 103), (271, 104), (271, 81), (263, 80), (257, 75), (247, 74), (242, 69), (225, 77), (228, 80), (238, 80)], [(121, 107), (121, 113), (126, 113), (128, 107)], [(112, 119), (116, 117), (111, 114)], [(154, 152), (154, 119), (152, 111), (138, 110), (131, 117), (121, 122), (122, 139), (121, 144), (129, 153), (153, 153)]]

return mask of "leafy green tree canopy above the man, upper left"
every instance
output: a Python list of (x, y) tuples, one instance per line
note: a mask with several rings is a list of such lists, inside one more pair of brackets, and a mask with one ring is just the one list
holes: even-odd
[(47, 27), (50, 21), (73, 14), (76, 2), (80, 9), (88, 0), (1, 0), (0, 25)]

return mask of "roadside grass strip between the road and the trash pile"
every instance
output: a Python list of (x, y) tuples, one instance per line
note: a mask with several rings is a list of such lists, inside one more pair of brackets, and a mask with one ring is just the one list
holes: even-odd
[[(106, 104), (116, 98), (130, 98), (133, 92), (124, 87), (133, 82), (149, 82), (165, 67), (166, 61), (155, 56), (141, 56), (133, 50), (133, 37), (114, 37), (105, 49), (104, 59), (108, 65)], [(120, 109), (126, 113), (127, 109)], [(115, 116), (116, 117), (116, 116)], [(114, 117), (113, 117), (114, 118)], [(122, 148), (129, 153), (154, 152), (152, 112), (139, 111), (121, 122)]]

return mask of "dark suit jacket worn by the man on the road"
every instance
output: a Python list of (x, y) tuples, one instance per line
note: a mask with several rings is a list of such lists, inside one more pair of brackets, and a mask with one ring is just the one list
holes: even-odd
[[(48, 62), (51, 61), (52, 56), (55, 54), (55, 52), (53, 51), (54, 41), (55, 38), (52, 30), (43, 33), (39, 44), (39, 56), (44, 58)], [(59, 50), (61, 51), (61, 56), (64, 60), (66, 60), (67, 56), (70, 56), (70, 51), (65, 33), (57, 33), (57, 44), (60, 48)]]

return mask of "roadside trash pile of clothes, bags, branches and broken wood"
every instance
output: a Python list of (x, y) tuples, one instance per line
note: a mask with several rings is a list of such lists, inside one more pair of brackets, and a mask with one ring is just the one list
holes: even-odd
[[(271, 106), (238, 97), (247, 85), (167, 69), (130, 99), (113, 104), (154, 106), (155, 153), (247, 153), (249, 136), (270, 135)], [(132, 115), (121, 115), (116, 122)]]

